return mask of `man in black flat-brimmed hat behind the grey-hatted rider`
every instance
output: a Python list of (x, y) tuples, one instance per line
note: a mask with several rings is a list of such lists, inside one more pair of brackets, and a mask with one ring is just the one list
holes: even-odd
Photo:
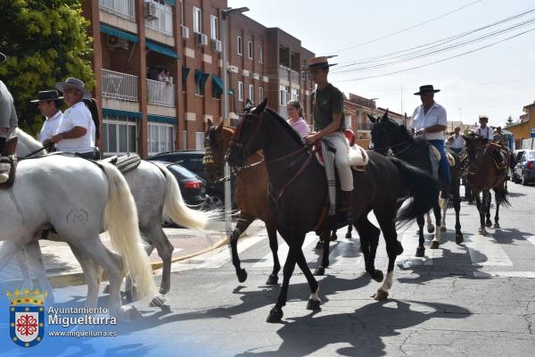
[(63, 113), (60, 110), (63, 97), (58, 94), (57, 90), (43, 90), (37, 93), (37, 99), (30, 102), (36, 103), (41, 114), (45, 116), (43, 128), (39, 133), (39, 141), (46, 145), (50, 142), (50, 138), (57, 133), (63, 119)]

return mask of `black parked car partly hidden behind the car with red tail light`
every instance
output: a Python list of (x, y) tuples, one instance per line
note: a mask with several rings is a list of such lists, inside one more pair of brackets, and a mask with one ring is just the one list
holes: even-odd
[[(206, 180), (204, 175), (204, 164), (202, 158), (204, 152), (202, 150), (176, 150), (166, 153), (160, 153), (148, 157), (146, 160), (174, 162), (187, 170), (193, 171), (197, 176), (201, 177), (206, 182), (206, 193), (208, 194), (209, 202), (207, 205), (210, 208), (223, 208), (225, 205), (225, 182), (212, 183)], [(231, 181), (231, 203), (235, 206), (235, 179)]]

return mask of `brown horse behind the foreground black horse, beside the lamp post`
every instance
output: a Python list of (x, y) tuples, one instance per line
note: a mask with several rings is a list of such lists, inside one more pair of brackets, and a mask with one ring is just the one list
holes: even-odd
[[(206, 155), (204, 159), (206, 179), (214, 182), (223, 177), (225, 154), (233, 135), (234, 129), (224, 126), (223, 122), (217, 127), (213, 127), (209, 120), (209, 129), (205, 133), (205, 151), (207, 154), (210, 153), (211, 157)], [(259, 164), (245, 170), (239, 170), (236, 173), (235, 201), (240, 213), (236, 227), (230, 236), (230, 247), (233, 252), (232, 263), (235, 266), (236, 275), (240, 283), (243, 283), (247, 279), (247, 272), (240, 266), (237, 251), (238, 238), (253, 220), (263, 220), (266, 223), (266, 230), (268, 230), (269, 248), (273, 253), (274, 262), (273, 271), (266, 284), (276, 285), (278, 282), (277, 273), (281, 270), (281, 264), (277, 255), (276, 222), (268, 212), (268, 171), (266, 165), (261, 163), (263, 159), (264, 156), (260, 152), (252, 154), (247, 160), (247, 164), (251, 165), (256, 162)]]

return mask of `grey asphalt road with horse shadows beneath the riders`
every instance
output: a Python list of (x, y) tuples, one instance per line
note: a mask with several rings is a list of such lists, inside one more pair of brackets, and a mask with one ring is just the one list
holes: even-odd
[[(415, 259), (416, 224), (399, 231), (389, 299), (364, 272), (357, 234), (339, 235), (332, 267), (319, 277), (322, 310), (306, 310), (309, 287), (296, 268), (282, 323), (265, 322), (278, 286), (265, 286), (268, 240), (257, 225), (240, 243), (249, 278), (235, 278), (226, 247), (175, 264), (169, 306), (140, 308), (144, 320), (120, 324), (119, 337), (58, 341), (54, 355), (82, 356), (533, 356), (535, 353), (535, 187), (509, 184), (512, 207), (501, 229), (477, 234), (473, 205), (462, 204), (465, 244), (456, 245), (453, 211), (439, 250)], [(494, 212), (492, 211), (492, 214)], [(429, 237), (429, 235), (428, 235)], [(314, 235), (304, 251), (317, 266)], [(282, 257), (285, 245), (281, 243)], [(383, 238), (376, 267), (386, 269)], [(282, 281), (282, 274), (279, 274)], [(56, 290), (58, 306), (81, 306), (85, 286)], [(103, 295), (101, 303), (105, 303)], [(98, 328), (95, 328), (98, 329)], [(52, 339), (53, 337), (47, 337)], [(57, 337), (56, 337), (57, 338)], [(23, 355), (15, 345), (6, 355)], [(36, 347), (37, 348), (37, 347)], [(1, 352), (0, 352), (1, 353)]]

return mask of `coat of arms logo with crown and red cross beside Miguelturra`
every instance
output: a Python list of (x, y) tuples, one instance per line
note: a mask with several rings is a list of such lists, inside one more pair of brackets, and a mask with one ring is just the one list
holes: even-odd
[(33, 347), (45, 336), (45, 307), (47, 294), (38, 289), (7, 292), (10, 302), (10, 335), (12, 341), (22, 347)]

